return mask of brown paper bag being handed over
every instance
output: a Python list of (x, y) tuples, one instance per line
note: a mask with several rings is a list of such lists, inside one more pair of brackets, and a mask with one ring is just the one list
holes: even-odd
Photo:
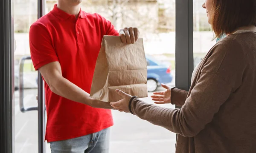
[(122, 90), (139, 98), (147, 97), (147, 62), (143, 39), (122, 43), (118, 36), (104, 36), (96, 61), (90, 97), (103, 102), (122, 99)]

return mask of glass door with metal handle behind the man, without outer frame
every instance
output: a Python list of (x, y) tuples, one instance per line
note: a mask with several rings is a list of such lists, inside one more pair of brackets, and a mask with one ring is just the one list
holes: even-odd
[(45, 153), (41, 75), (32, 65), (29, 28), (44, 14), (43, 0), (14, 0), (15, 153)]

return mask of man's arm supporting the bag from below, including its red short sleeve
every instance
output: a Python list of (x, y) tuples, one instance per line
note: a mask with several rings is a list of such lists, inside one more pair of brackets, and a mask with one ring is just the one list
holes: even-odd
[(87, 92), (62, 76), (61, 65), (46, 27), (41, 24), (30, 27), (29, 46), (35, 70), (41, 72), (53, 93), (94, 108), (113, 109), (107, 102), (90, 98)]

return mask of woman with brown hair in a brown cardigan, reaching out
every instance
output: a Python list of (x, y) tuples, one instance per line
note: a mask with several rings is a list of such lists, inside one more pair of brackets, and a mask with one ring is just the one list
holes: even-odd
[(176, 153), (256, 153), (256, 0), (206, 0), (218, 41), (195, 70), (189, 92), (153, 96), (181, 109), (149, 105), (122, 91), (113, 108), (178, 134)]

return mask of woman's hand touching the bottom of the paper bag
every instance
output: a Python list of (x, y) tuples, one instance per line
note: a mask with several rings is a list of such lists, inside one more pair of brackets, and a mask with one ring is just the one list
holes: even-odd
[(129, 113), (129, 100), (132, 97), (131, 95), (126, 94), (123, 91), (120, 91), (118, 89), (116, 89), (116, 93), (119, 94), (120, 96), (123, 97), (123, 99), (117, 101), (117, 102), (111, 102), (110, 105), (118, 110), (118, 111), (123, 111), (125, 113)]

